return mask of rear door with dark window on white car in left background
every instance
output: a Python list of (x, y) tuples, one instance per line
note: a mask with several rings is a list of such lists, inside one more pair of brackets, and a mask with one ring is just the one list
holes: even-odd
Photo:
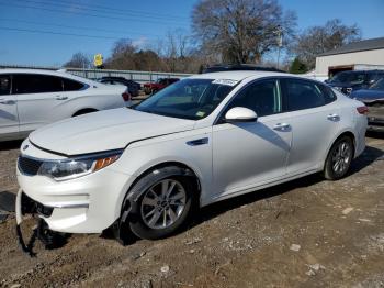
[(14, 74), (12, 93), (18, 100), (20, 132), (30, 132), (57, 119), (63, 96), (60, 77), (41, 74)]

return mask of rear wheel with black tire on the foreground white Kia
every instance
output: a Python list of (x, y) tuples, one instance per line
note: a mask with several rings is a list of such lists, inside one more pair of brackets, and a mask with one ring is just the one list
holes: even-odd
[[(341, 153), (342, 145), (346, 145), (346, 152)], [(342, 155), (341, 155), (341, 154)], [(338, 180), (345, 177), (351, 166), (354, 155), (353, 141), (350, 136), (341, 136), (330, 148), (326, 163), (324, 165), (324, 177), (328, 180)]]

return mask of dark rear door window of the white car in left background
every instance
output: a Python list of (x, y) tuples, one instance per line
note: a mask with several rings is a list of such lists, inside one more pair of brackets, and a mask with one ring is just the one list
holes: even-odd
[(15, 74), (12, 81), (12, 93), (46, 93), (63, 91), (59, 77), (38, 74)]

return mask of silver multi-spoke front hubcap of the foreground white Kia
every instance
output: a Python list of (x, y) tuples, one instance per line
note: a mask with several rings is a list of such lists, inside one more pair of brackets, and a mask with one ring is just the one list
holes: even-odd
[(140, 212), (144, 223), (151, 229), (172, 225), (184, 211), (187, 195), (183, 186), (174, 179), (163, 179), (144, 195)]

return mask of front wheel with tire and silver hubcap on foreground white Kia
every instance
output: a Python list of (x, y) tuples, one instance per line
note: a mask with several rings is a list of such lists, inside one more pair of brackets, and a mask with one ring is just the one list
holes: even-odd
[(150, 240), (176, 232), (191, 210), (192, 190), (187, 177), (170, 176), (154, 182), (138, 199), (137, 214), (134, 221), (129, 221), (132, 232)]

